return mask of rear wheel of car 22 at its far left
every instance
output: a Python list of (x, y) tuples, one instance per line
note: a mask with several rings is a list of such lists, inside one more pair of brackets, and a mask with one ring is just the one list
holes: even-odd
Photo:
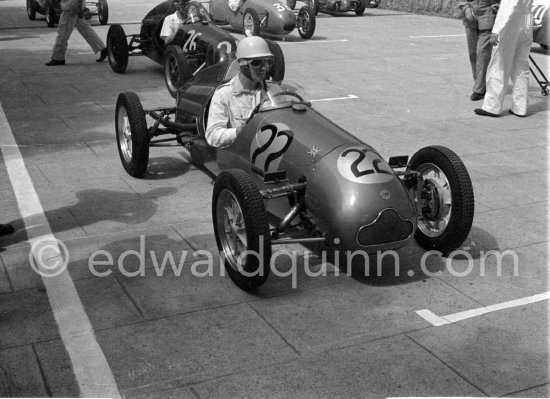
[(130, 176), (143, 177), (149, 162), (149, 134), (145, 112), (136, 93), (118, 95), (115, 129), (122, 166)]

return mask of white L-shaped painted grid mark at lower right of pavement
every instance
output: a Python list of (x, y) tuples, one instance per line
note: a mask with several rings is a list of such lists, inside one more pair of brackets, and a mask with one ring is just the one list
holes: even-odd
[(433, 326), (442, 326), (445, 324), (456, 323), (460, 320), (470, 319), (472, 317), (481, 316), (486, 313), (496, 312), (498, 310), (515, 308), (518, 306), (528, 305), (535, 302), (546, 301), (550, 299), (550, 291), (542, 294), (532, 295), (525, 298), (514, 299), (508, 302), (497, 303), (494, 305), (484, 306), (482, 308), (466, 310), (464, 312), (453, 313), (447, 316), (438, 316), (428, 309), (417, 310), (416, 313)]

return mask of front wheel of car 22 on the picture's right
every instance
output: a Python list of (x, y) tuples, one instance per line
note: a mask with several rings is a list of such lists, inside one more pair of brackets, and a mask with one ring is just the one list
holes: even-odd
[(409, 168), (425, 179), (415, 239), (424, 249), (448, 254), (464, 243), (474, 219), (474, 190), (466, 166), (450, 149), (432, 146), (415, 153)]

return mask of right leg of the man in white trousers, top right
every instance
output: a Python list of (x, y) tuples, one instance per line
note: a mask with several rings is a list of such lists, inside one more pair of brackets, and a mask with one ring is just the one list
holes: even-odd
[(512, 78), (512, 108), (510, 110), (519, 116), (527, 114), (529, 106), (529, 52), (533, 44), (533, 34), (522, 32), (518, 40), (514, 63), (510, 77)]

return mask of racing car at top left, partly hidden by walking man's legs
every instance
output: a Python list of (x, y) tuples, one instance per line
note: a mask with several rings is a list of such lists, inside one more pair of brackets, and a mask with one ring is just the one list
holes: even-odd
[[(107, 0), (87, 1), (85, 17), (91, 18), (97, 15), (101, 25), (107, 25), (109, 21), (109, 5)], [(31, 21), (36, 19), (36, 14), (46, 17), (46, 24), (53, 28), (59, 23), (61, 15), (61, 0), (27, 0), (27, 16)]]

